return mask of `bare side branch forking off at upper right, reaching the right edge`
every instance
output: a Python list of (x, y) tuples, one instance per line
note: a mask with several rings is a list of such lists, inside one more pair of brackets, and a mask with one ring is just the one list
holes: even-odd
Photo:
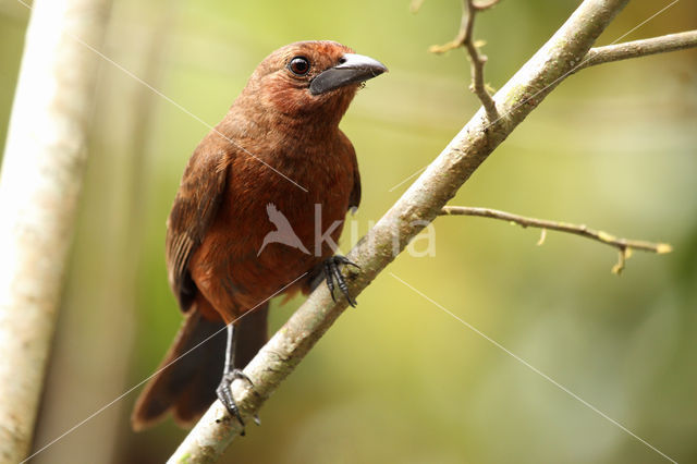
[(695, 47), (697, 47), (697, 30), (686, 30), (643, 40), (595, 47), (588, 50), (578, 69)]

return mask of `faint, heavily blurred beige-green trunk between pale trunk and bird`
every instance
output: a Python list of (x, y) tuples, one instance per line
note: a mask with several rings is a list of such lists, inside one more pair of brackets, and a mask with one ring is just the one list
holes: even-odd
[[(129, 70), (156, 88), (167, 61), (176, 4), (114, 5), (103, 45), (110, 58), (127, 60)], [(129, 28), (125, 35), (120, 27), (123, 16), (138, 17), (145, 27)], [(101, 156), (90, 160), (85, 173), (75, 232), (78, 245), (71, 254), (46, 378), (50, 388), (41, 400), (35, 451), (100, 411), (136, 381), (129, 377), (129, 363), (133, 362), (135, 347), (138, 273), (147, 235), (145, 213), (150, 209), (152, 184), (147, 181), (151, 180), (150, 136), (157, 130), (157, 98), (148, 87), (115, 68), (107, 65), (99, 73), (95, 109), (99, 123), (90, 131), (88, 149)], [(99, 243), (109, 245), (91, 245)], [(76, 449), (84, 462), (132, 462), (127, 443), (120, 442), (131, 437), (131, 407), (132, 402), (115, 402), (89, 426), (61, 439), (60, 445), (36, 455), (32, 463), (72, 462)], [(147, 445), (139, 448), (143, 453)]]

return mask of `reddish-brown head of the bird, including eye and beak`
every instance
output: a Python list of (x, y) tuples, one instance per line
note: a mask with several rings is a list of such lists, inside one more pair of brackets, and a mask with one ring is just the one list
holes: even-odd
[(387, 71), (335, 41), (298, 41), (269, 54), (243, 97), (267, 112), (338, 124), (358, 87)]

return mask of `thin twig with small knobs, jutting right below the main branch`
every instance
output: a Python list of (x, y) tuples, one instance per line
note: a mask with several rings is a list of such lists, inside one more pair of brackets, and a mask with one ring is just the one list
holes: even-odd
[(643, 252), (652, 252), (658, 254), (670, 253), (673, 247), (668, 243), (652, 243), (643, 240), (620, 239), (608, 232), (590, 229), (585, 224), (572, 224), (568, 222), (549, 221), (546, 219), (528, 218), (525, 216), (513, 215), (511, 212), (500, 211), (490, 208), (476, 208), (469, 206), (445, 206), (441, 209), (440, 216), (478, 216), (480, 218), (500, 219), (522, 225), (523, 228), (542, 229), (542, 236), (537, 243), (541, 245), (545, 242), (547, 230), (559, 232), (567, 232), (576, 235), (595, 240), (606, 245), (613, 246), (620, 251), (620, 260), (612, 268), (614, 273), (620, 273), (624, 269), (625, 258), (628, 258), (632, 249), (640, 249)]

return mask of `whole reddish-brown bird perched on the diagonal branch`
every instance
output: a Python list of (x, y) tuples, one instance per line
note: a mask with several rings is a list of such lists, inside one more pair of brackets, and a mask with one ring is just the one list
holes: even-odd
[(135, 429), (168, 412), (191, 425), (216, 396), (240, 419), (230, 384), (266, 343), (269, 297), (325, 278), (353, 304), (339, 272), (350, 262), (327, 240), (335, 243), (360, 202), (339, 122), (362, 83), (386, 71), (341, 44), (291, 44), (257, 66), (198, 145), (167, 227), (169, 282), (185, 319), (135, 405)]

